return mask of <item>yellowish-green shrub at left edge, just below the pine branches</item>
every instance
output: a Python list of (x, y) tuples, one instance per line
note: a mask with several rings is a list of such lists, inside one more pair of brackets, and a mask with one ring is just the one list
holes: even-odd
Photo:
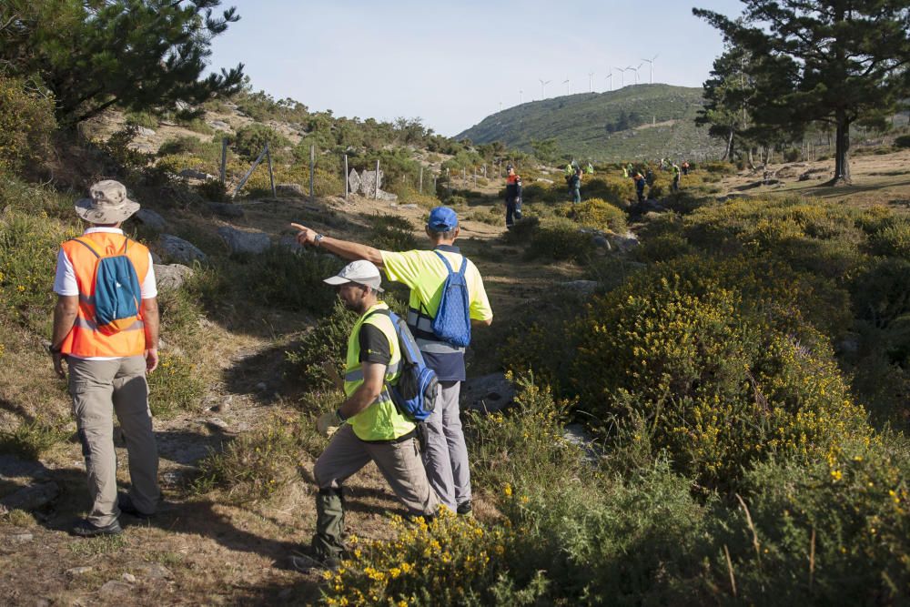
[(27, 92), (25, 82), (0, 76), (0, 168), (19, 169), (51, 152), (54, 100)]

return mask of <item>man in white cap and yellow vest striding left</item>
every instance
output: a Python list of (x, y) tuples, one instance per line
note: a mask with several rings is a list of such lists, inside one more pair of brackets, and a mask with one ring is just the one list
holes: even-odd
[(398, 334), (389, 319), (389, 306), (377, 298), (382, 292), (379, 268), (369, 261), (354, 261), (325, 282), (338, 289), (345, 307), (360, 318), (351, 329), (345, 360), (344, 392), (338, 410), (324, 413), (319, 431), (338, 427), (313, 467), (319, 485), (316, 496), (316, 534), (308, 556), (292, 558), (301, 570), (323, 565), (335, 567), (344, 555), (344, 501), (341, 483), (370, 460), (389, 481), (411, 515), (433, 516), (439, 498), (430, 489), (420, 460), (417, 427), (391, 400), (387, 384), (399, 377)]

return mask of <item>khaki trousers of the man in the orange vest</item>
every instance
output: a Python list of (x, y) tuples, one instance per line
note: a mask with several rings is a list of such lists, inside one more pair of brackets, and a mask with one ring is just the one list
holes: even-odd
[(136, 510), (152, 514), (158, 497), (158, 451), (148, 409), (146, 360), (131, 356), (115, 360), (66, 359), (73, 415), (86, 458), (88, 521), (103, 527), (116, 521), (116, 452), (114, 413), (126, 437), (130, 499)]

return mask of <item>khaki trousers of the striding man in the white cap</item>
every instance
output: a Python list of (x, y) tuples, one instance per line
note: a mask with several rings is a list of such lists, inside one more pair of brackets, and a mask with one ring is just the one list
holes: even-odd
[(376, 467), (411, 515), (436, 514), (440, 500), (430, 489), (427, 472), (420, 461), (417, 439), (367, 442), (357, 438), (349, 424), (344, 424), (332, 436), (329, 446), (322, 451), (313, 467), (313, 476), (319, 485), (313, 549), (320, 557), (338, 557), (343, 550), (341, 538), (345, 528), (341, 483), (370, 460), (376, 462)]

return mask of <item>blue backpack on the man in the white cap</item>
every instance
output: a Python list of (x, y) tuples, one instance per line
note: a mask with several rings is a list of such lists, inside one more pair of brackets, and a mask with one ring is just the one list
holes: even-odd
[(408, 324), (390, 309), (378, 309), (389, 317), (399, 339), (401, 350), (401, 373), (394, 384), (389, 384), (389, 394), (399, 412), (411, 421), (425, 421), (436, 408), (436, 393), (439, 379), (436, 371), (427, 367), (417, 341), (411, 335)]

